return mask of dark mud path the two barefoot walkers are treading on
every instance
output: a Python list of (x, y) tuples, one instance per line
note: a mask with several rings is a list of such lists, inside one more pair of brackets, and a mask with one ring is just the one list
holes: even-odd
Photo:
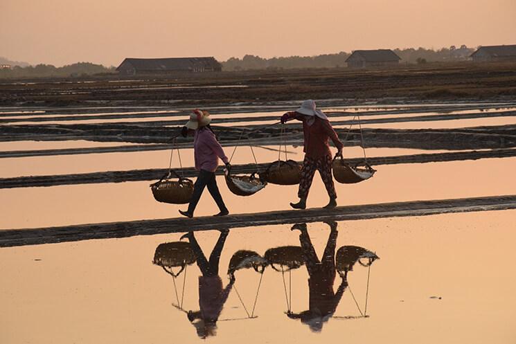
[(308, 223), (508, 209), (516, 209), (516, 195), (341, 206), (334, 210), (317, 208), (259, 212), (226, 217), (152, 219), (106, 224), (0, 230), (0, 247), (177, 233), (185, 232), (186, 228), (188, 230), (209, 230), (295, 224), (301, 218), (303, 222)]

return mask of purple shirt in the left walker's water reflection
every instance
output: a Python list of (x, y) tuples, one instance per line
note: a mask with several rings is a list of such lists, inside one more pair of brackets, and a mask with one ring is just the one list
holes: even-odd
[(222, 289), (219, 276), (199, 276), (199, 308), (204, 320), (217, 320), (222, 312), (233, 283)]

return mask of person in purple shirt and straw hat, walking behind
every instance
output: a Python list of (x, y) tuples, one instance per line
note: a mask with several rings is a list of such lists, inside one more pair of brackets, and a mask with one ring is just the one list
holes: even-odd
[(190, 114), (190, 120), (181, 130), (181, 135), (183, 136), (188, 134), (194, 135), (195, 170), (199, 171), (199, 176), (193, 187), (193, 196), (190, 204), (188, 204), (188, 210), (179, 210), (181, 215), (186, 217), (193, 217), (193, 212), (205, 187), (208, 187), (211, 197), (213, 197), (219, 207), (220, 212), (215, 216), (229, 214), (229, 210), (226, 208), (224, 201), (222, 201), (222, 196), (217, 187), (215, 170), (217, 170), (219, 165), (219, 158), (226, 164), (226, 168), (231, 168), (231, 165), (229, 165), (229, 160), (210, 127), (211, 118), (209, 116), (208, 111), (196, 109)]

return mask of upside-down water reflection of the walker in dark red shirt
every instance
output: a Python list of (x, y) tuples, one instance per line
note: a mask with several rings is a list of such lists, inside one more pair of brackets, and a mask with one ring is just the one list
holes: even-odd
[(310, 289), (310, 300), (308, 311), (301, 313), (292, 313), (287, 311), (287, 316), (293, 319), (301, 319), (301, 323), (310, 326), (314, 332), (320, 332), (323, 324), (335, 313), (337, 305), (341, 300), (342, 294), (348, 282), (346, 276), (341, 275), (341, 283), (337, 292), (333, 291), (333, 284), (335, 282), (335, 246), (337, 244), (337, 222), (326, 222), (330, 226), (330, 235), (326, 248), (324, 249), (321, 260), (315, 253), (314, 246), (308, 235), (306, 224), (295, 224), (292, 230), (299, 230), (299, 241), (303, 255), (305, 256), (305, 265), (308, 270), (308, 287)]

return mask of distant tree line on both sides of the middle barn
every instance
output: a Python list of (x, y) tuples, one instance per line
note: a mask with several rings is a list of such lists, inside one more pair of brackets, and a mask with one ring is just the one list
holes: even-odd
[[(456, 62), (468, 60), (468, 57), (475, 51), (463, 45), (460, 48), (450, 46), (439, 50), (425, 48), (394, 49), (394, 52), (401, 57), (401, 63), (424, 64), (427, 62)], [(265, 59), (254, 55), (245, 55), (242, 59), (231, 57), (222, 63), (223, 71), (246, 71), (251, 69), (302, 69), (302, 68), (338, 68), (346, 66), (346, 59), (350, 53), (341, 51), (336, 54), (317, 56), (290, 56), (272, 57)]]

